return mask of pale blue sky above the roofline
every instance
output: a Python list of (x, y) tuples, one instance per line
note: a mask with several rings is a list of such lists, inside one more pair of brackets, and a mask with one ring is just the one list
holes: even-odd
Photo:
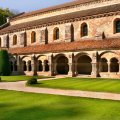
[(70, 1), (72, 0), (0, 0), (0, 7), (18, 12), (29, 12)]

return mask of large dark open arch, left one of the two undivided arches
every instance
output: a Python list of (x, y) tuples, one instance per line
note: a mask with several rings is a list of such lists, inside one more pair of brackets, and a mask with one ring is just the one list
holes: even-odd
[(65, 56), (60, 56), (57, 58), (57, 74), (68, 74), (69, 72), (69, 65), (68, 65), (68, 58)]

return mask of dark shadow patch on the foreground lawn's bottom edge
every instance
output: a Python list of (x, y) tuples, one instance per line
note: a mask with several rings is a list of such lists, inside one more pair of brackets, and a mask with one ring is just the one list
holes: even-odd
[[(9, 105), (8, 105), (9, 109)], [(8, 114), (1, 120), (73, 120), (76, 116), (84, 116), (86, 110), (75, 107), (63, 108), (62, 106), (34, 106), (23, 109), (8, 111)]]

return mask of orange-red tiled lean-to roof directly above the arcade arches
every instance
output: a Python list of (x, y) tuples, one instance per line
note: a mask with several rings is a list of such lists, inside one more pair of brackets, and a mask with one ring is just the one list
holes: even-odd
[(12, 54), (29, 54), (29, 53), (54, 53), (65, 51), (80, 50), (102, 50), (102, 49), (120, 49), (120, 38), (104, 40), (79, 40), (67, 43), (55, 43), (46, 45), (26, 46), (24, 48), (10, 48)]

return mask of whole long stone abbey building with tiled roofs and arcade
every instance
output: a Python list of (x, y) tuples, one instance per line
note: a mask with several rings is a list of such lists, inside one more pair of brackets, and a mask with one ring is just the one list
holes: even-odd
[(120, 77), (120, 0), (76, 0), (0, 26), (12, 74)]

